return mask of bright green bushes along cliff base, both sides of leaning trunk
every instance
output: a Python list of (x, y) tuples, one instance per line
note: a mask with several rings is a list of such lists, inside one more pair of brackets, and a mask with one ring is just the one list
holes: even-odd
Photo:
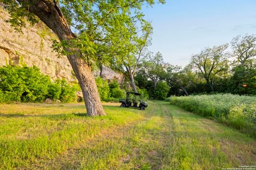
[[(119, 98), (125, 98), (125, 91), (116, 80), (108, 84), (98, 77), (96, 84), (102, 101), (118, 102)], [(0, 67), (0, 103), (41, 102), (46, 98), (69, 103), (77, 100), (76, 91), (80, 90), (77, 83), (70, 84), (65, 79), (51, 82), (36, 66)]]

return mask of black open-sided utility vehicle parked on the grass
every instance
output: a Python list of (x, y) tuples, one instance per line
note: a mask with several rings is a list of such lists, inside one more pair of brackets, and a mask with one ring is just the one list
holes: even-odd
[[(139, 106), (138, 101), (140, 102)], [(126, 99), (119, 99), (119, 103), (122, 103), (121, 107), (140, 108), (142, 111), (148, 107), (148, 104), (143, 101), (141, 94), (138, 94), (137, 92), (126, 92)]]

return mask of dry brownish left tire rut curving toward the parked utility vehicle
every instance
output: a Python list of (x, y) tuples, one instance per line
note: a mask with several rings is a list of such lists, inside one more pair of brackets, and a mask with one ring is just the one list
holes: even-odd
[[(106, 129), (101, 131), (100, 134), (95, 136), (93, 139), (85, 141), (84, 143), (80, 143), (79, 145), (69, 149), (65, 153), (55, 157), (54, 159), (41, 159), (38, 160), (37, 163), (31, 164), (30, 169), (78, 169), (81, 167), (82, 163), (85, 161), (85, 156), (83, 154), (94, 154), (93, 150), (97, 150), (100, 148), (111, 147), (111, 141), (117, 140), (117, 138), (123, 136), (124, 134), (133, 128), (136, 124), (143, 122), (148, 119), (147, 116), (151, 115), (155, 110), (155, 104), (153, 104), (152, 109), (149, 109), (149, 113), (143, 113), (144, 116), (142, 120), (137, 122), (128, 123), (124, 126), (116, 126), (115, 128)], [(129, 108), (132, 109), (132, 108)], [(123, 135), (122, 135), (123, 134)], [(108, 143), (108, 145), (106, 145)], [(113, 143), (112, 143), (113, 144)], [(100, 146), (99, 146), (100, 145)], [(97, 148), (99, 147), (99, 148)], [(112, 146), (113, 147), (113, 146)], [(103, 155), (109, 151), (109, 148), (106, 150), (102, 150)], [(86, 152), (87, 153), (84, 153)], [(90, 153), (91, 152), (91, 153)], [(82, 153), (82, 154), (81, 154)], [(100, 155), (100, 153), (98, 153)], [(102, 155), (102, 154), (101, 154)], [(27, 169), (28, 167), (22, 167), (20, 169)]]

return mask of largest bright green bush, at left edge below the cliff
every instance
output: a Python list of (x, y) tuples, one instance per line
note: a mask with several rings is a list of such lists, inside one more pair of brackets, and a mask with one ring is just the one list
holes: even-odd
[(3, 66), (0, 68), (0, 90), (11, 92), (21, 101), (42, 101), (51, 83), (36, 67)]

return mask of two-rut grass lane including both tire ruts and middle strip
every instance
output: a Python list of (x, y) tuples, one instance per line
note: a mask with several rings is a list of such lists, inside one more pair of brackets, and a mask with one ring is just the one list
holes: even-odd
[(151, 103), (143, 120), (118, 126), (70, 149), (36, 169), (159, 169), (170, 145), (171, 115), (159, 102)]

